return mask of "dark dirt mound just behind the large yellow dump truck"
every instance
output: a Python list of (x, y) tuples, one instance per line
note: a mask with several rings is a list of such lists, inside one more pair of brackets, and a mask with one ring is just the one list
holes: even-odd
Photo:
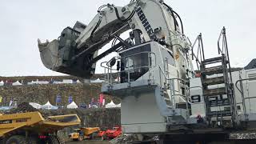
[(13, 108), (10, 110), (10, 114), (16, 114), (16, 113), (26, 113), (26, 112), (34, 112), (38, 111), (33, 106), (30, 106), (28, 102), (22, 102), (20, 103), (17, 108)]

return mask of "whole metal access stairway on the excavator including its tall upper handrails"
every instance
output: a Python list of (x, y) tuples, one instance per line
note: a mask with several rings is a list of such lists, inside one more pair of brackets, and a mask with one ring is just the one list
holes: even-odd
[[(221, 38), (222, 48), (219, 44)], [(207, 121), (211, 126), (225, 126), (226, 123), (229, 123), (229, 127), (234, 126), (236, 106), (225, 27), (218, 39), (218, 57), (205, 59), (201, 34), (198, 42), (201, 44), (198, 46), (201, 61), (195, 54), (194, 57), (200, 66), (198, 70), (201, 73)]]

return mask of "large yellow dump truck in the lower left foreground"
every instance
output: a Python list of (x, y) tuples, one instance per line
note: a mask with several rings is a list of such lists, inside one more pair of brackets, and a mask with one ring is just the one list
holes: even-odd
[(58, 130), (80, 124), (77, 114), (43, 118), (39, 112), (0, 114), (0, 143), (62, 144)]

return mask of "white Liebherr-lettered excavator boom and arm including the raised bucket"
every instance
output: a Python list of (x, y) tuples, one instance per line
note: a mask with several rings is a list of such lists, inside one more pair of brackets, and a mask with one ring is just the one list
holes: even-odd
[[(130, 41), (118, 36), (132, 30)], [(118, 7), (104, 5), (88, 26), (77, 22), (66, 27), (52, 42), (38, 39), (41, 59), (46, 68), (81, 78), (90, 78), (96, 62), (115, 50), (142, 42), (157, 41), (173, 49), (172, 37), (181, 34), (170, 6), (159, 0), (137, 0)], [(98, 55), (98, 50), (117, 38), (119, 43)]]

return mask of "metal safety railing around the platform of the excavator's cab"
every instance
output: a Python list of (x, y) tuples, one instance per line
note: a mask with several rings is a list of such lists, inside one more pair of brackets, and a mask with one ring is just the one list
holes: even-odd
[[(148, 54), (148, 65), (147, 66), (130, 66), (130, 61), (129, 58), (132, 58), (138, 54)], [(119, 57), (114, 57), (115, 60), (121, 60), (122, 58)], [(114, 85), (114, 84), (118, 84), (121, 83), (121, 74), (127, 74), (127, 82), (131, 82), (130, 78), (130, 74), (133, 73), (136, 70), (140, 70), (140, 69), (148, 69), (148, 72), (150, 72), (150, 69), (154, 68), (156, 66), (156, 55), (153, 52), (140, 52), (140, 53), (136, 53), (136, 54), (130, 54), (126, 57), (123, 57), (125, 59), (127, 59), (127, 66), (125, 66), (125, 68), (127, 70), (117, 70), (117, 69), (113, 69), (113, 66), (110, 65), (110, 62), (102, 62), (101, 66), (104, 68), (104, 75), (105, 75), (105, 82), (106, 84), (109, 85)], [(113, 58), (112, 58), (113, 59)], [(142, 59), (143, 61), (143, 59)], [(120, 62), (120, 61), (119, 61)], [(105, 64), (105, 66), (104, 66)], [(117, 77), (117, 81), (114, 81), (114, 77)], [(142, 78), (144, 77), (144, 75), (142, 75)], [(148, 74), (148, 78), (150, 79), (150, 74)]]

